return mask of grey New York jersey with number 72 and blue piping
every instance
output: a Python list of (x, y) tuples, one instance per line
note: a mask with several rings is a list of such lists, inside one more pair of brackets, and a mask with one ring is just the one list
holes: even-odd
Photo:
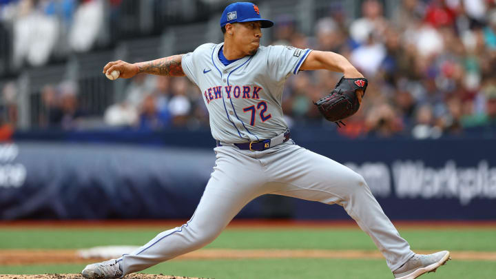
[(196, 83), (209, 111), (212, 136), (223, 143), (273, 138), (287, 130), (282, 117), (282, 89), (297, 74), (311, 50), (260, 46), (225, 66), (218, 45), (205, 43), (183, 55), (183, 71)]

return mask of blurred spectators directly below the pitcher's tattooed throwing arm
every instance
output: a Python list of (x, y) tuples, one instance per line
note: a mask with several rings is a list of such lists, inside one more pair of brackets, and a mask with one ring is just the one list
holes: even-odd
[(121, 101), (108, 107), (104, 120), (107, 125), (134, 126), (141, 130), (208, 127), (202, 96), (186, 77), (138, 74), (118, 98)]

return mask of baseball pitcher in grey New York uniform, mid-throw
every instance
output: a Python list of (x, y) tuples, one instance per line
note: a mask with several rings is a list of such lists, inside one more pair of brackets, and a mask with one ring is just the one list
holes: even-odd
[(123, 277), (199, 249), (263, 194), (341, 205), (371, 236), (395, 278), (417, 278), (449, 259), (448, 251), (413, 253), (360, 174), (291, 140), (281, 108), (288, 76), (302, 70), (342, 72), (329, 96), (316, 102), (323, 116), (336, 123), (358, 110), (367, 80), (340, 54), (261, 46), (261, 28), (272, 25), (253, 3), (233, 3), (220, 19), (223, 43), (205, 43), (194, 52), (154, 61), (105, 65), (104, 74), (118, 71), (123, 79), (144, 72), (187, 76), (198, 85), (217, 143), (216, 164), (187, 223), (163, 231), (131, 254), (87, 265), (82, 271), (85, 278)]

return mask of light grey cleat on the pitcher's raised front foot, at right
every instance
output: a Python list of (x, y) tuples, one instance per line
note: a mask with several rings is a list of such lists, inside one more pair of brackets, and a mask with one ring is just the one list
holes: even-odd
[(430, 255), (415, 254), (408, 262), (393, 271), (396, 279), (415, 279), (424, 273), (435, 272), (448, 260), (451, 260), (449, 251), (440, 251)]

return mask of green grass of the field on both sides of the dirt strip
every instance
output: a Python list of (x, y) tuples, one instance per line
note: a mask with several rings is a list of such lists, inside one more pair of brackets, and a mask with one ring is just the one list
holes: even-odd
[[(163, 228), (167, 229), (167, 228)], [(0, 249), (79, 249), (99, 245), (142, 245), (162, 229), (1, 228)], [(415, 249), (496, 251), (496, 228), (400, 229)], [(204, 249), (360, 249), (375, 250), (360, 229), (270, 228), (227, 229)], [(78, 273), (84, 265), (1, 266), (0, 273)], [(205, 278), (392, 278), (385, 260), (249, 259), (172, 260), (144, 273)], [(422, 278), (495, 278), (496, 262), (457, 260)]]

